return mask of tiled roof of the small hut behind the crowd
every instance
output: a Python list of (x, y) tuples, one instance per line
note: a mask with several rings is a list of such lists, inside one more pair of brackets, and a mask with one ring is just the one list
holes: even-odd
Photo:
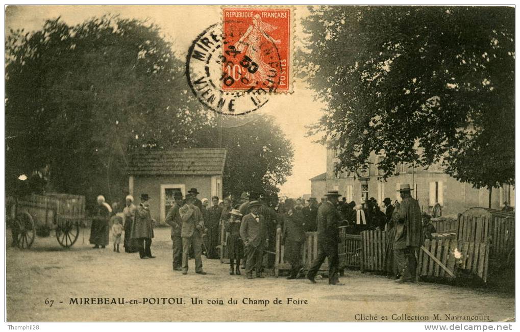
[(132, 155), (128, 175), (220, 175), (226, 149), (147, 151)]

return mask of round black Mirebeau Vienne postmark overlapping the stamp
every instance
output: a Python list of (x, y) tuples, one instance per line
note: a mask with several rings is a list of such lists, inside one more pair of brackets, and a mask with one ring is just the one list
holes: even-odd
[(228, 26), (223, 33), (218, 24), (213, 24), (192, 42), (186, 77), (205, 107), (219, 114), (244, 115), (263, 107), (269, 94), (276, 91), (280, 56), (268, 36), (250, 43), (248, 30), (238, 28), (240, 25)]

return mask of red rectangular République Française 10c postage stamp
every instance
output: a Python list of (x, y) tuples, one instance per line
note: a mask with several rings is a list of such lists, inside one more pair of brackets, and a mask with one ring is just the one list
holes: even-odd
[(289, 92), (291, 9), (223, 9), (225, 91)]

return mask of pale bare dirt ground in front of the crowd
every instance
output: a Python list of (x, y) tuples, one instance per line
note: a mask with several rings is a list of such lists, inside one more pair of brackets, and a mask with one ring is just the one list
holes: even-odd
[[(226, 264), (203, 258), (207, 275), (194, 273), (193, 260), (188, 275), (182, 275), (172, 271), (167, 228), (155, 230), (152, 251), (157, 258), (148, 260), (138, 254), (114, 253), (110, 245), (92, 249), (88, 234), (83, 230), (70, 249), (61, 248), (55, 237), (37, 237), (29, 250), (7, 248), (9, 322), (467, 321), (467, 316), (473, 321), (503, 321), (514, 317), (513, 295), (431, 283), (396, 285), (358, 271), (347, 271), (341, 278), (343, 286), (283, 277), (246, 280), (244, 275), (229, 275)], [(80, 304), (85, 298), (89, 304)], [(202, 304), (192, 304), (192, 298)], [(231, 298), (236, 304), (228, 303)], [(274, 303), (276, 298), (281, 304)], [(290, 304), (288, 298), (293, 299)], [(51, 307), (50, 300), (54, 301)]]

